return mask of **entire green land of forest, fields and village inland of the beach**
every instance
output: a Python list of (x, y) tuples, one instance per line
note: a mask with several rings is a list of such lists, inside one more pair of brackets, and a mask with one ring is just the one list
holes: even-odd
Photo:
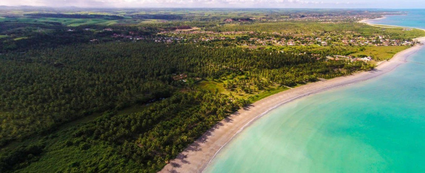
[(153, 173), (253, 96), (375, 67), (326, 58), (363, 46), (244, 41), (423, 35), (361, 10), (23, 11), (0, 11), (1, 173)]

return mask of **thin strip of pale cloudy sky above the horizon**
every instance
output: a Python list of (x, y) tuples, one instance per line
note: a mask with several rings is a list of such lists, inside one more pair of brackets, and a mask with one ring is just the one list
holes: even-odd
[(0, 0), (0, 6), (86, 8), (425, 8), (425, 0)]

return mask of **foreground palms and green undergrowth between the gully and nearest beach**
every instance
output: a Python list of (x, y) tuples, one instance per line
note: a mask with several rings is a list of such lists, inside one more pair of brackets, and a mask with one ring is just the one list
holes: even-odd
[[(19, 150), (38, 152), (11, 163), (14, 169), (23, 168), (17, 172), (154, 172), (232, 111), (234, 103), (224, 95), (198, 91), (173, 95), (137, 113), (106, 112), (91, 123), (32, 140), (39, 144), (36, 151)], [(18, 156), (16, 152), (3, 161)]]

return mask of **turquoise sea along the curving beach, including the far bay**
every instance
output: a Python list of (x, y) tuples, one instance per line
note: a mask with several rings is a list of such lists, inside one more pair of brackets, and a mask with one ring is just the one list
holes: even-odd
[[(374, 23), (425, 29), (425, 10)], [(280, 106), (205, 173), (424, 173), (425, 49), (390, 73)]]

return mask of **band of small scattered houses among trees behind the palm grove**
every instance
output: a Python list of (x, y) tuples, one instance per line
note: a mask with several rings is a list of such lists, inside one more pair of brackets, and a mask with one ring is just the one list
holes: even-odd
[[(264, 36), (266, 35), (266, 36)], [(270, 34), (269, 34), (270, 35)], [(155, 42), (210, 42), (216, 40), (235, 41), (237, 45), (352, 45), (352, 46), (411, 46), (408, 39), (390, 39), (390, 36), (359, 36), (356, 33), (256, 33), (253, 31), (212, 32), (212, 31), (163, 31), (154, 38)]]

